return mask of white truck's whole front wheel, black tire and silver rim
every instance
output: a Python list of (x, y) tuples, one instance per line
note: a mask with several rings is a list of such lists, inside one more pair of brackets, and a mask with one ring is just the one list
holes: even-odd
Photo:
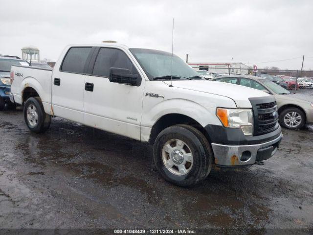
[(170, 126), (157, 136), (154, 161), (169, 182), (192, 186), (204, 180), (212, 167), (212, 151), (203, 134), (188, 125)]

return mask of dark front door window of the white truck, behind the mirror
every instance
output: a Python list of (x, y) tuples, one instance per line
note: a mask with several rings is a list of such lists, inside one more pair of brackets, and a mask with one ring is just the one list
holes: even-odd
[(131, 74), (138, 74), (127, 55), (114, 48), (101, 48), (93, 67), (93, 75), (109, 77), (110, 68), (128, 69)]

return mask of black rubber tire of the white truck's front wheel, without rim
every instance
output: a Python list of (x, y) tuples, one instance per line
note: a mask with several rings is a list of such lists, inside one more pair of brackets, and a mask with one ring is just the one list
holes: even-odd
[[(173, 139), (179, 139), (186, 143), (193, 155), (193, 164), (185, 175), (176, 175), (163, 164), (163, 146)], [(156, 169), (162, 177), (183, 187), (193, 186), (204, 180), (210, 173), (213, 162), (212, 150), (204, 135), (196, 128), (188, 125), (170, 126), (161, 131), (156, 137), (153, 155)]]

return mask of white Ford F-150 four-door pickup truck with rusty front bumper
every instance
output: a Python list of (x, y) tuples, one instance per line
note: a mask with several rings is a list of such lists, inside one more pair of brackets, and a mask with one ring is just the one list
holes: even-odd
[(190, 186), (213, 164), (263, 164), (278, 149), (275, 99), (207, 81), (178, 56), (119, 44), (67, 46), (54, 69), (12, 66), (10, 99), (36, 133), (51, 117), (145, 141), (157, 170)]

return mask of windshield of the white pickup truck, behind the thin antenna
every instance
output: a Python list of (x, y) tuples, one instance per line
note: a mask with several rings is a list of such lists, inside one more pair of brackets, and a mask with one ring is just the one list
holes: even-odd
[[(178, 76), (182, 80), (204, 80), (199, 73), (187, 65), (177, 55), (173, 55), (172, 70), (172, 54), (160, 50), (131, 48), (130, 51), (145, 71), (150, 80), (155, 77)], [(170, 77), (164, 77), (164, 80), (171, 80)]]

